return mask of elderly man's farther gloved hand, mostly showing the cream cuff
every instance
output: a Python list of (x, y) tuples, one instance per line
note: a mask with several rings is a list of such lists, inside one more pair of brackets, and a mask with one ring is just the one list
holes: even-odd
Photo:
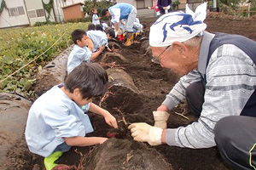
[(167, 120), (170, 116), (166, 111), (153, 111), (154, 127), (167, 128)]

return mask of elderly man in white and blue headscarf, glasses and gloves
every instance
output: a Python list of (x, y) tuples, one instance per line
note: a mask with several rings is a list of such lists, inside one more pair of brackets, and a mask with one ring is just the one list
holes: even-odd
[[(162, 67), (180, 81), (153, 112), (154, 127), (130, 125), (132, 137), (151, 145), (192, 149), (217, 145), (230, 166), (256, 167), (256, 42), (238, 35), (207, 31), (207, 3), (194, 12), (174, 12), (156, 20), (149, 44)], [(187, 99), (198, 121), (166, 128), (167, 111)]]

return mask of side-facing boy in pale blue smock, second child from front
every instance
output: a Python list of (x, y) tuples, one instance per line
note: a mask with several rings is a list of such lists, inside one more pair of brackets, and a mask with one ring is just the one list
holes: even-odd
[(73, 69), (80, 65), (83, 61), (90, 62), (90, 60), (96, 59), (96, 57), (102, 53), (105, 45), (98, 48), (95, 53), (91, 53), (89, 48), (86, 47), (87, 40), (86, 32), (84, 30), (77, 29), (71, 34), (73, 42), (75, 43), (73, 50), (67, 59), (67, 74), (69, 74)]

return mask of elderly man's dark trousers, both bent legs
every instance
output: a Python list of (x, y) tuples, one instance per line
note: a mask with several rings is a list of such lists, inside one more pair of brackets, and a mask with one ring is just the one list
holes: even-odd
[[(202, 82), (192, 83), (186, 90), (189, 110), (195, 116), (201, 116), (204, 94)], [(256, 169), (256, 117), (224, 117), (215, 125), (214, 135), (221, 156), (231, 167)]]

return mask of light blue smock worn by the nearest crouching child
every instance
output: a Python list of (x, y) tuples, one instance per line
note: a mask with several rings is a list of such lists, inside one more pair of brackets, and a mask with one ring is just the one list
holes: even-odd
[[(90, 109), (85, 105), (84, 111)], [(32, 153), (49, 156), (64, 143), (64, 137), (84, 137), (93, 132), (90, 119), (82, 107), (54, 86), (40, 96), (30, 108), (26, 122), (26, 144)]]

